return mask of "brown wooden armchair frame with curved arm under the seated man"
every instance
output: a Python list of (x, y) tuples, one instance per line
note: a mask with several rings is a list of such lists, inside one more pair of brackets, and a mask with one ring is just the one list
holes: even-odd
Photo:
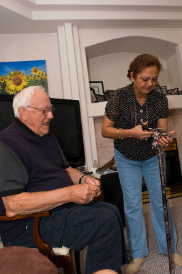
[[(14, 217), (7, 217), (5, 214), (0, 214), (0, 221), (13, 221), (25, 218), (33, 218), (33, 239), (35, 241), (35, 245), (37, 249), (44, 254), (51, 262), (53, 262), (57, 267), (63, 267), (65, 274), (74, 274), (74, 267), (72, 265), (72, 254), (71, 250), (69, 249), (68, 253), (65, 255), (57, 255), (54, 253), (54, 249), (50, 246), (48, 242), (42, 238), (40, 233), (40, 218), (41, 217), (48, 217), (50, 212), (38, 212), (33, 214), (20, 214)], [(60, 248), (61, 249), (61, 248)], [(76, 272), (80, 274), (80, 262), (78, 262), (78, 251), (75, 251), (75, 264), (76, 264)]]

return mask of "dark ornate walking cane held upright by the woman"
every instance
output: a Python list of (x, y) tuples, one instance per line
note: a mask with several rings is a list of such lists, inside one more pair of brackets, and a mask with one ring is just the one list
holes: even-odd
[(168, 247), (169, 271), (170, 271), (170, 274), (173, 274), (174, 272), (172, 267), (172, 249), (171, 249), (168, 208), (167, 208), (167, 199), (166, 199), (166, 182), (164, 179), (164, 164), (162, 160), (164, 151), (157, 142), (157, 140), (159, 140), (161, 136), (168, 136), (170, 138), (172, 138), (172, 136), (168, 132), (154, 131), (153, 133), (154, 133), (153, 148), (157, 150), (157, 156), (158, 156), (159, 166), (160, 166), (160, 179), (161, 179), (161, 189), (162, 189), (162, 202), (164, 207), (164, 223), (166, 227), (166, 240), (167, 240), (167, 247)]

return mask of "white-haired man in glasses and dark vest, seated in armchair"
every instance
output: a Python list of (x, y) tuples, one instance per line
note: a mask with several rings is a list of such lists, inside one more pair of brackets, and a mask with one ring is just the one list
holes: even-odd
[[(93, 201), (100, 182), (73, 169), (49, 133), (54, 108), (48, 95), (41, 86), (29, 86), (14, 97), (13, 108), (15, 121), (0, 133), (0, 213), (50, 210), (40, 229), (52, 247), (80, 251), (88, 245), (85, 273), (121, 273), (127, 253), (119, 211)], [(31, 227), (31, 219), (1, 222), (3, 245), (35, 247)]]

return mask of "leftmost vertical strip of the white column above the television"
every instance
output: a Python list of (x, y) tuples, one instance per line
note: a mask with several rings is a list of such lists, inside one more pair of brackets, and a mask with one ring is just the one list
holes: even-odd
[(67, 45), (65, 38), (65, 27), (57, 27), (58, 47), (60, 55), (61, 76), (63, 83), (63, 98), (72, 99), (72, 90), (70, 82), (70, 71), (67, 60)]

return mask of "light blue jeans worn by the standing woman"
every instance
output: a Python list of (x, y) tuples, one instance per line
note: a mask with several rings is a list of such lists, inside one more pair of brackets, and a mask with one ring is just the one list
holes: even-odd
[[(143, 258), (149, 253), (145, 220), (142, 212), (142, 176), (145, 179), (149, 191), (151, 218), (157, 238), (158, 250), (160, 253), (167, 254), (164, 208), (157, 155), (149, 160), (138, 162), (125, 158), (117, 149), (115, 149), (115, 161), (117, 163), (121, 188), (123, 190), (125, 222), (131, 257), (133, 259)], [(172, 253), (176, 253), (177, 235), (169, 206), (168, 217)]]

